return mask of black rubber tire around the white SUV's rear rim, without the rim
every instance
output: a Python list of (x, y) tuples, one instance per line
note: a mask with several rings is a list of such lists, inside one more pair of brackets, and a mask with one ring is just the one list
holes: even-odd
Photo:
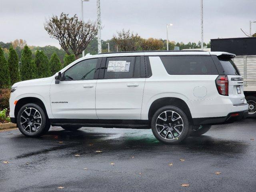
[[(164, 139), (162, 138), (157, 130), (156, 130), (156, 120), (158, 118), (158, 116), (164, 112), (164, 111), (168, 111), (168, 110), (171, 110), (171, 111), (174, 111), (176, 113), (178, 113), (181, 118), (182, 118), (182, 121), (183, 121), (183, 130), (182, 130), (182, 133), (180, 136), (178, 136), (177, 138), (173, 139), (173, 140), (168, 140), (168, 139)], [(160, 109), (158, 109), (155, 114), (153, 115), (152, 117), (152, 120), (151, 120), (151, 129), (152, 129), (152, 132), (154, 134), (154, 136), (160, 141), (160, 142), (163, 142), (163, 143), (166, 143), (166, 144), (177, 144), (177, 143), (180, 143), (182, 142), (184, 139), (186, 139), (188, 137), (188, 135), (190, 134), (190, 128), (189, 128), (189, 122), (188, 122), (188, 118), (186, 116), (186, 114), (178, 107), (176, 106), (164, 106)]]

